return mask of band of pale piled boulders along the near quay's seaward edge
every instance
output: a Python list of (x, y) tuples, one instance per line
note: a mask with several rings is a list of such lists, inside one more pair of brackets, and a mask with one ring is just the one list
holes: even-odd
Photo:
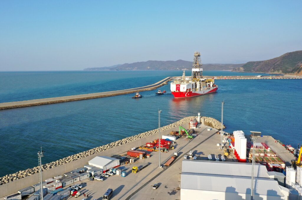
[[(167, 126), (161, 127), (161, 131), (165, 131), (165, 130), (169, 130), (169, 129), (172, 129), (172, 128), (175, 128), (175, 127), (179, 127), (182, 124), (189, 123), (191, 121), (191, 119), (194, 119), (194, 118), (197, 118), (197, 116), (185, 117), (185, 118), (183, 118), (183, 119), (181, 119), (181, 120), (179, 120), (175, 123), (172, 123), (172, 124), (169, 124)], [(218, 120), (214, 119), (214, 118), (201, 117), (201, 121), (202, 121), (202, 119), (204, 119), (205, 125), (208, 124), (207, 126), (210, 126), (214, 129), (219, 129), (221, 127), (221, 123)], [(147, 131), (147, 132), (144, 132), (144, 133), (140, 133), (140, 134), (137, 134), (137, 135), (134, 135), (134, 136), (130, 136), (130, 137), (127, 137), (127, 138), (124, 138), (124, 139), (120, 139), (118, 141), (111, 142), (110, 144), (107, 144), (107, 145), (99, 146), (99, 147), (90, 149), (90, 150), (85, 151), (85, 152), (81, 152), (81, 153), (78, 153), (78, 154), (75, 154), (75, 155), (68, 156), (66, 158), (62, 158), (62, 159), (57, 160), (57, 161), (53, 161), (51, 163), (43, 164), (42, 165), (42, 170), (47, 170), (47, 169), (50, 169), (50, 168), (53, 168), (53, 167), (56, 167), (56, 166), (59, 166), (59, 165), (65, 164), (65, 163), (69, 163), (71, 161), (75, 161), (75, 160), (78, 160), (80, 158), (84, 158), (86, 156), (93, 155), (95, 153), (105, 151), (107, 149), (114, 148), (116, 146), (126, 144), (127, 142), (132, 142), (132, 141), (135, 141), (137, 139), (145, 138), (147, 136), (150, 136), (150, 135), (153, 135), (153, 134), (156, 134), (156, 133), (158, 133), (158, 129), (150, 130), (150, 131)], [(27, 170), (20, 170), (16, 173), (8, 174), (8, 175), (0, 178), (0, 185), (3, 185), (5, 183), (9, 183), (9, 182), (14, 181), (14, 180), (18, 180), (18, 179), (21, 179), (21, 178), (24, 178), (24, 177), (27, 177), (27, 176), (31, 176), (32, 174), (35, 174), (35, 173), (39, 173), (39, 167), (34, 167), (34, 168), (27, 169)]]

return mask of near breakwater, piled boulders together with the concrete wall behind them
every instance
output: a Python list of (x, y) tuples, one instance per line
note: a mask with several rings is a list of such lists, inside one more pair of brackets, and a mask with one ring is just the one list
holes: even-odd
[[(173, 129), (178, 130), (179, 126), (188, 128), (188, 123), (190, 122), (190, 120), (197, 118), (197, 116), (182, 118), (179, 121), (161, 127), (161, 133), (169, 134), (169, 131)], [(221, 128), (220, 121), (212, 117), (201, 117), (201, 121), (204, 121), (205, 125), (210, 126), (214, 129), (219, 130)], [(225, 126), (223, 128), (225, 128)], [(62, 175), (63, 173), (66, 173), (68, 171), (83, 167), (83, 165), (87, 164), (87, 162), (95, 156), (112, 156), (127, 152), (130, 148), (138, 147), (146, 144), (146, 142), (157, 139), (157, 134), (158, 129), (149, 130), (144, 133), (111, 142), (107, 145), (95, 147), (85, 152), (80, 152), (78, 154), (53, 161), (51, 163), (42, 164), (43, 179), (51, 178), (56, 175)], [(27, 170), (20, 170), (16, 173), (5, 175), (4, 177), (0, 177), (0, 197), (16, 192), (18, 189), (22, 189), (38, 183), (39, 168), (40, 167), (37, 166)]]

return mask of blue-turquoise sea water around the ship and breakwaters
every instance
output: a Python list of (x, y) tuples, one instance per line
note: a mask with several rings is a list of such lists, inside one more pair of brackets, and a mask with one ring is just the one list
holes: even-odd
[[(56, 97), (155, 83), (182, 71), (100, 71), (0, 73), (2, 102)], [(205, 71), (204, 75), (249, 75), (229, 71)], [(188, 72), (189, 75), (189, 72)], [(259, 74), (250, 74), (259, 75)], [(114, 77), (114, 78), (112, 78)], [(226, 131), (261, 131), (283, 142), (301, 143), (299, 130), (302, 80), (216, 80), (218, 92), (188, 99), (174, 99), (169, 85), (161, 89), (85, 101), (66, 102), (0, 111), (0, 176), (76, 154), (157, 127), (185, 116), (201, 115), (220, 120), (224, 105)]]

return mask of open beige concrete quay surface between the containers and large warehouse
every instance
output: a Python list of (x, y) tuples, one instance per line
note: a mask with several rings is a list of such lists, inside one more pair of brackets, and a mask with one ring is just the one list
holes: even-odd
[[(78, 199), (85, 198), (83, 195), (85, 193), (88, 194), (88, 198), (86, 196), (88, 200), (100, 200), (108, 188), (113, 189), (111, 199), (180, 199), (180, 174), (184, 155), (190, 150), (197, 156), (197, 160), (207, 160), (208, 154), (223, 155), (217, 146), (217, 143), (220, 143), (220, 135), (216, 134), (217, 130), (208, 131), (207, 128), (209, 127), (201, 125), (199, 129), (194, 130), (194, 133), (198, 134), (197, 137), (192, 140), (179, 138), (176, 140), (174, 150), (161, 153), (161, 164), (164, 164), (174, 152), (178, 152), (178, 157), (171, 166), (160, 168), (159, 152), (152, 152), (150, 158), (138, 159), (134, 163), (124, 165), (128, 168), (126, 177), (113, 175), (104, 177), (104, 181), (86, 179), (81, 183), (83, 188), (79, 190)], [(138, 173), (132, 173), (133, 166), (138, 167), (146, 163), (149, 163), (146, 168)], [(159, 184), (159, 187), (153, 189), (154, 184)]]

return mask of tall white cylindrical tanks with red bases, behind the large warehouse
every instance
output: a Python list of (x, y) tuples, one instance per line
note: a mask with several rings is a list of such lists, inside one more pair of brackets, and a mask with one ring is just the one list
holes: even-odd
[(235, 137), (235, 155), (239, 161), (246, 161), (246, 138), (242, 130), (233, 131)]

